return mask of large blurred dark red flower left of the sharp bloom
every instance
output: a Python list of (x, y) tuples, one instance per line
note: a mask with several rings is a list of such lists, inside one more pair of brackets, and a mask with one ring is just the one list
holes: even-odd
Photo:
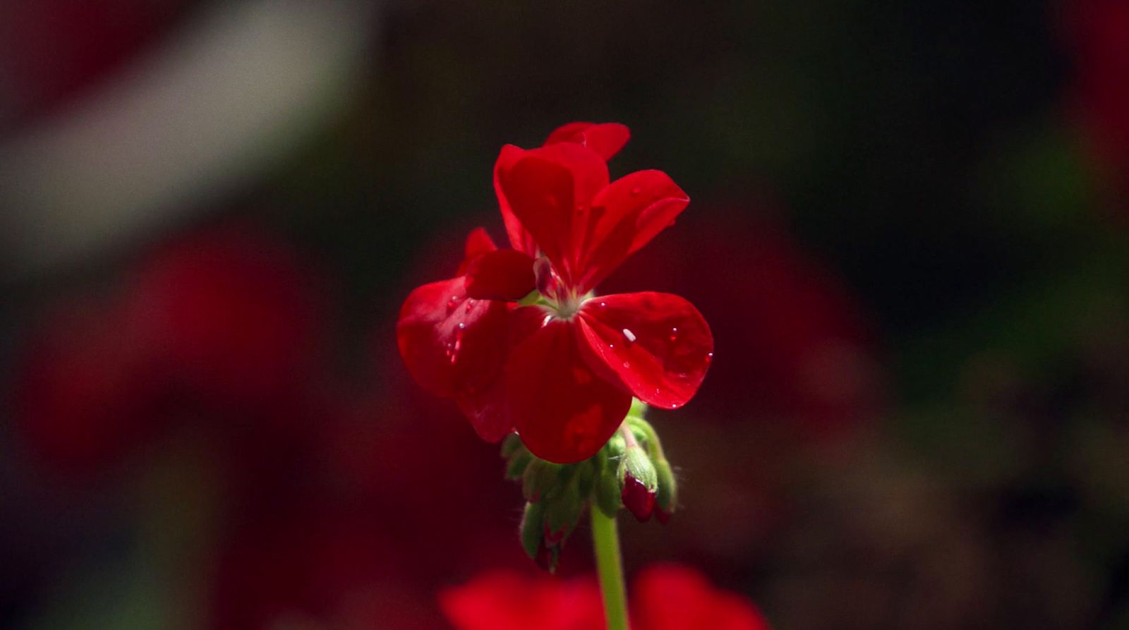
[(229, 228), (176, 240), (113, 295), (49, 309), (16, 371), (18, 425), (76, 472), (185, 414), (221, 419), (229, 437), (254, 427), (244, 448), (277, 445), (306, 423), (324, 308), (316, 274), (269, 237)]

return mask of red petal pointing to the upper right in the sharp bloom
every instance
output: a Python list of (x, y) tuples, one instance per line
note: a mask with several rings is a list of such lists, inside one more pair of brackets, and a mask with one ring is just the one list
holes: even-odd
[(577, 279), (581, 292), (593, 289), (629, 255), (663, 231), (690, 203), (690, 198), (665, 173), (639, 170), (625, 175), (596, 195), (589, 225), (584, 228)]

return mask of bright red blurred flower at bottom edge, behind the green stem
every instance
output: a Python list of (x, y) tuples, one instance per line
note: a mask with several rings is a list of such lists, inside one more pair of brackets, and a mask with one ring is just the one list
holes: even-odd
[[(654, 565), (639, 572), (631, 592), (634, 630), (768, 630), (744, 597), (710, 585), (699, 571)], [(603, 603), (590, 577), (561, 580), (492, 571), (439, 594), (439, 606), (457, 630), (602, 630)]]

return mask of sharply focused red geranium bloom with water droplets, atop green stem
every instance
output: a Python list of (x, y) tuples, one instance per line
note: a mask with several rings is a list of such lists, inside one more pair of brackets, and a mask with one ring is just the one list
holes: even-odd
[(690, 202), (658, 170), (610, 181), (605, 159), (627, 138), (619, 124), (571, 123), (539, 149), (504, 147), (495, 190), (513, 248), (475, 230), (460, 275), (415, 289), (401, 309), (412, 376), (455, 399), (487, 440), (517, 430), (539, 457), (581, 461), (631, 396), (675, 409), (706, 375), (714, 338), (690, 303), (593, 292)]

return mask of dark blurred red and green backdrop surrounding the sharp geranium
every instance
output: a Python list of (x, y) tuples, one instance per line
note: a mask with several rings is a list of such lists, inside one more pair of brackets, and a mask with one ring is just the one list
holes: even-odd
[(629, 571), (788, 630), (1129, 627), (1121, 0), (0, 3), (0, 627), (447, 628), (535, 571), (394, 325), (575, 120), (693, 200), (604, 289), (717, 343)]

